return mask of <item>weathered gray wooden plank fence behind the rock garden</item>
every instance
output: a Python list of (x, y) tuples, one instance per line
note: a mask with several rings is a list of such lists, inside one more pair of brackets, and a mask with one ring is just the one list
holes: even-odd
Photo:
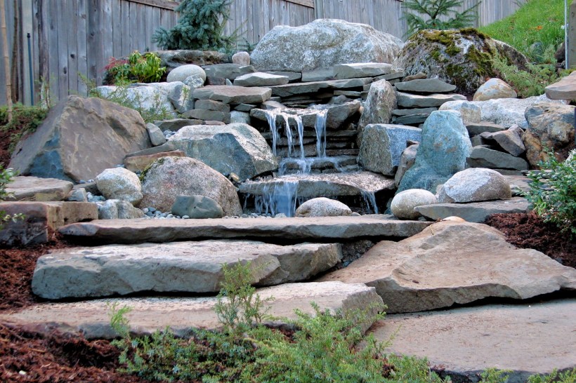
[[(152, 34), (158, 27), (176, 25), (173, 0), (0, 0), (6, 1), (8, 48), (12, 52), (15, 100), (30, 104), (40, 83), (49, 85), (53, 98), (86, 94), (84, 79), (102, 82), (110, 57), (134, 50), (154, 51)], [(476, 0), (464, 0), (466, 9)], [(483, 0), (476, 25), (486, 25), (516, 11), (514, 0)], [(234, 0), (225, 28), (243, 42), (257, 43), (276, 25), (299, 26), (316, 18), (362, 22), (402, 37), (406, 25), (399, 0)], [(29, 76), (27, 34), (32, 46)], [(0, 60), (0, 88), (4, 88), (4, 61)], [(0, 105), (6, 103), (0, 92)]]

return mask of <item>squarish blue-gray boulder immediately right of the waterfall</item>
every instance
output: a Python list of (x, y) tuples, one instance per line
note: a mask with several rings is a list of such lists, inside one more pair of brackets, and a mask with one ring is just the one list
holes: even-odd
[(362, 130), (358, 162), (365, 169), (394, 175), (407, 141), (420, 141), (422, 130), (402, 125), (375, 123)]

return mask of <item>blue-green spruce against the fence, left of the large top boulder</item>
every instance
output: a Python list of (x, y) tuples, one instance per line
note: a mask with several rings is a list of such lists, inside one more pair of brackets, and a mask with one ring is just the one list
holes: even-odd
[(178, 24), (154, 32), (152, 42), (162, 49), (197, 49), (229, 51), (236, 36), (224, 36), (224, 26), (230, 18), (232, 0), (183, 0), (176, 8)]

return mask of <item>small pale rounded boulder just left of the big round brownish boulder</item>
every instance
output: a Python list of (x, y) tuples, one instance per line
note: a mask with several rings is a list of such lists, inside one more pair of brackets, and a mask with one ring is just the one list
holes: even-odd
[(106, 199), (119, 199), (132, 205), (142, 201), (138, 175), (124, 168), (106, 169), (96, 176), (96, 186)]

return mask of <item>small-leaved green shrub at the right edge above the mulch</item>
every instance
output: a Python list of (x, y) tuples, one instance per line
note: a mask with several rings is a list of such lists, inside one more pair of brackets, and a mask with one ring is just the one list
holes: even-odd
[(576, 237), (576, 149), (564, 162), (548, 151), (539, 167), (541, 170), (528, 173), (532, 182), (526, 198), (544, 221), (554, 222)]

